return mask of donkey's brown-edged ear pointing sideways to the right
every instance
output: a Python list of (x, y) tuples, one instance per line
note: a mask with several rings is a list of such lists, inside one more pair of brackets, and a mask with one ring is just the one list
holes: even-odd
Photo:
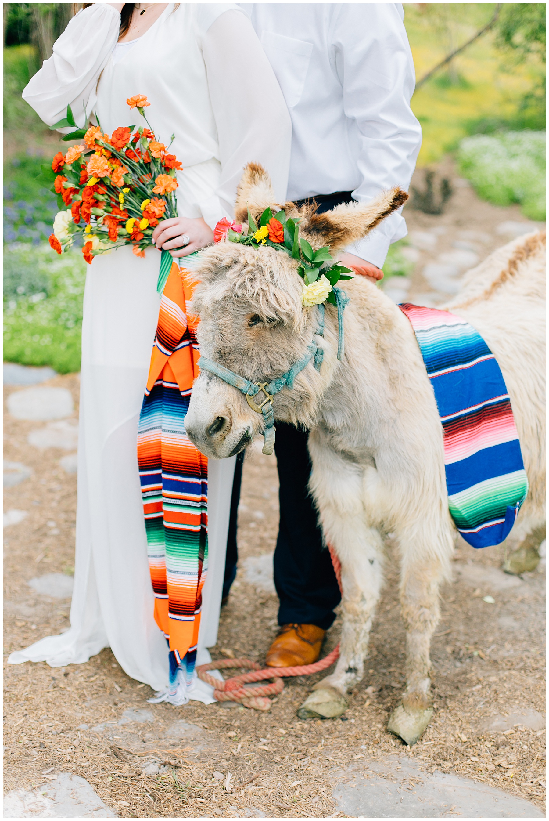
[(345, 248), (351, 242), (361, 240), (406, 200), (408, 195), (397, 186), (383, 191), (370, 203), (342, 204), (324, 213), (304, 213), (300, 233), (310, 239), (313, 247), (323, 244), (330, 245), (333, 250)]

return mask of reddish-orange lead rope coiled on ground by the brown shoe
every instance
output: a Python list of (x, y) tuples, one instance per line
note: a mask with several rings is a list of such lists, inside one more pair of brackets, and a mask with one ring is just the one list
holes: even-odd
[[(336, 557), (336, 553), (331, 545), (328, 545), (330, 556), (332, 557), (332, 565), (336, 573), (337, 584), (341, 594), (343, 589), (341, 587), (341, 562)], [(257, 662), (250, 661), (249, 658), (222, 658), (217, 662), (210, 662), (209, 664), (200, 664), (196, 668), (197, 675), (201, 681), (213, 686), (213, 698), (217, 701), (236, 701), (238, 704), (243, 704), (245, 707), (255, 710), (269, 710), (271, 709), (272, 701), (268, 698), (269, 695), (278, 695), (284, 689), (284, 681), (282, 677), (294, 676), (312, 676), (315, 672), (326, 670), (330, 667), (337, 658), (339, 658), (339, 642), (328, 653), (325, 658), (321, 658), (318, 662), (313, 664), (302, 664), (300, 667), (260, 667)], [(208, 670), (226, 670), (231, 667), (240, 667), (248, 669), (251, 672), (246, 672), (241, 676), (233, 676), (221, 681), (218, 678), (208, 675)], [(271, 684), (263, 685), (263, 687), (245, 687), (252, 681), (266, 681), (271, 678)]]

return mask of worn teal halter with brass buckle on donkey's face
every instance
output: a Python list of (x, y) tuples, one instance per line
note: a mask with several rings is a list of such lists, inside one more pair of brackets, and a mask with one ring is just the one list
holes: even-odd
[[(336, 297), (337, 305), (337, 359), (341, 361), (345, 355), (343, 311), (345, 310), (345, 305), (349, 303), (349, 297), (345, 294), (345, 291), (341, 291), (341, 288), (334, 287), (332, 291)], [(324, 305), (318, 305), (318, 328), (314, 335), (318, 337), (324, 336)], [(255, 410), (256, 413), (263, 414), (263, 420), (265, 422), (263, 453), (267, 456), (271, 456), (274, 449), (276, 430), (274, 426), (274, 412), (272, 410), (272, 397), (286, 386), (290, 389), (293, 388), (295, 377), (309, 365), (311, 360), (314, 360), (314, 367), (319, 371), (320, 366), (323, 364), (323, 357), (323, 348), (313, 340), (313, 342), (309, 342), (307, 346), (307, 353), (298, 360), (295, 365), (292, 365), (291, 369), (286, 371), (286, 374), (282, 374), (277, 379), (272, 379), (271, 382), (250, 382), (249, 379), (235, 374), (228, 368), (224, 368), (223, 365), (217, 365), (217, 362), (213, 362), (213, 360), (208, 359), (206, 356), (200, 356), (199, 367), (201, 370), (207, 370), (208, 373), (219, 377), (228, 385), (232, 385), (233, 388), (238, 388), (239, 391), (244, 393), (250, 408)], [(263, 393), (264, 396), (259, 404), (254, 401), (254, 397), (256, 397), (258, 393)]]

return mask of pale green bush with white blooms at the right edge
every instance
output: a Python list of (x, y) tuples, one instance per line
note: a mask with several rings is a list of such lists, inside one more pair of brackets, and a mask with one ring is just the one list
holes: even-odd
[(545, 219), (545, 131), (467, 137), (458, 159), (460, 172), (484, 200), (519, 203), (527, 217)]

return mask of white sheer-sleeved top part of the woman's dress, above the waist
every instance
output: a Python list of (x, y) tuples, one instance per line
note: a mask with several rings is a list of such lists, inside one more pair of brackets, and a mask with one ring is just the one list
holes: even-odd
[(266, 167), (284, 200), (291, 120), (258, 37), (235, 4), (175, 5), (116, 61), (119, 12), (106, 3), (79, 11), (23, 97), (48, 125), (65, 117), (70, 103), (78, 126), (91, 119), (111, 134), (117, 126), (146, 126), (126, 105), (146, 94), (157, 140), (169, 144), (175, 134), (171, 153), (183, 163), (178, 213), (213, 227), (231, 215), (246, 163)]

